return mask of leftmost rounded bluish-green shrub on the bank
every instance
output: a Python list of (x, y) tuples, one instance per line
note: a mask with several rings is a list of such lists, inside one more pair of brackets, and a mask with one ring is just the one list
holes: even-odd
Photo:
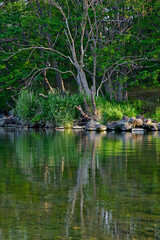
[(16, 113), (21, 119), (32, 119), (40, 109), (40, 104), (32, 91), (24, 90), (18, 97)]

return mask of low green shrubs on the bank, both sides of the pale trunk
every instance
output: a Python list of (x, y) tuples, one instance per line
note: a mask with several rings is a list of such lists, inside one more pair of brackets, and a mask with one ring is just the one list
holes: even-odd
[[(34, 92), (22, 91), (16, 102), (15, 111), (17, 115), (21, 119), (28, 119), (33, 123), (49, 121), (56, 126), (71, 127), (81, 117), (76, 106), (81, 105), (82, 109), (86, 111), (83, 101), (84, 96), (81, 94), (70, 95), (66, 93), (65, 96), (62, 96), (55, 91), (54, 94), (50, 93), (47, 97), (45, 99)], [(90, 99), (87, 96), (86, 99), (90, 105)], [(103, 124), (112, 120), (120, 120), (123, 115), (133, 117), (141, 113), (141, 104), (138, 102), (116, 103), (98, 97), (96, 106), (99, 121)]]

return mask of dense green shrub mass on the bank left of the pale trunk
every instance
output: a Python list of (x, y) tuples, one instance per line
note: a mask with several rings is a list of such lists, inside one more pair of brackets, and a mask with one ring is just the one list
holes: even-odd
[(83, 107), (83, 95), (68, 93), (65, 96), (58, 92), (47, 95), (48, 99), (39, 97), (34, 92), (24, 90), (19, 95), (15, 111), (21, 119), (31, 122), (49, 121), (56, 126), (70, 127), (80, 115), (76, 109), (77, 105)]

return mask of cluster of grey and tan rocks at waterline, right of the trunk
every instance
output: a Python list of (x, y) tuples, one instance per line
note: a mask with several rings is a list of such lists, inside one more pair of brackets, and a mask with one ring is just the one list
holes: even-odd
[(156, 123), (150, 118), (145, 119), (143, 116), (127, 117), (123, 116), (120, 121), (113, 121), (106, 124), (106, 126), (98, 124), (91, 120), (85, 126), (87, 131), (160, 131), (160, 122)]

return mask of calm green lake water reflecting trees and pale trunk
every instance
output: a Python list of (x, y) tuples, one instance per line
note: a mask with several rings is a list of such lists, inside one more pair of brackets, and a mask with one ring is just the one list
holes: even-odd
[(0, 129), (0, 239), (160, 239), (160, 132)]

